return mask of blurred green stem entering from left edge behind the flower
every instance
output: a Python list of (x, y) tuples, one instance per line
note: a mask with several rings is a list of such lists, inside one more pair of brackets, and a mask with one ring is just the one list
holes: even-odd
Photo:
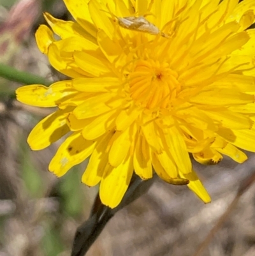
[(31, 73), (18, 71), (11, 66), (6, 66), (0, 63), (0, 77), (8, 79), (14, 82), (19, 82), (20, 84), (43, 84), (49, 86), (50, 81), (44, 79), (43, 77), (38, 77)]

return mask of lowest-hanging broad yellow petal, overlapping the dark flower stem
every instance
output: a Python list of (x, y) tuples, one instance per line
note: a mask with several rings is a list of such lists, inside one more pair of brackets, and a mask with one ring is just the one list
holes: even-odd
[(133, 174), (132, 158), (128, 158), (118, 167), (108, 165), (99, 188), (99, 196), (103, 204), (116, 207), (124, 197)]

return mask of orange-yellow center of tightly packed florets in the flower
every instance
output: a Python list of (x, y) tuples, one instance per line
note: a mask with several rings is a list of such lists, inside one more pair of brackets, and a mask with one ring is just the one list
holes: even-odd
[(177, 73), (168, 63), (159, 61), (136, 61), (129, 75), (131, 98), (147, 109), (166, 109), (180, 91)]

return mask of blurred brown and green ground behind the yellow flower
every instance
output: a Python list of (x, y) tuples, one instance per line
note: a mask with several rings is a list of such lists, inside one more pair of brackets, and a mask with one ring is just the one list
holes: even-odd
[[(36, 47), (34, 33), (45, 23), (43, 11), (71, 19), (62, 0), (0, 0), (0, 73), (5, 64), (15, 68), (14, 75), (65, 79)], [(86, 163), (61, 179), (48, 172), (61, 141), (43, 151), (29, 149), (27, 135), (53, 110), (18, 103), (14, 90), (22, 84), (0, 78), (0, 256), (69, 256), (75, 230), (88, 218), (98, 188), (80, 181)], [(254, 180), (255, 154), (248, 155), (242, 165), (228, 158), (216, 166), (194, 163), (212, 196), (207, 205), (186, 186), (157, 180), (110, 220), (87, 255), (198, 256), (200, 243), (242, 186), (247, 190), (201, 255), (254, 256), (255, 186), (247, 184)]]

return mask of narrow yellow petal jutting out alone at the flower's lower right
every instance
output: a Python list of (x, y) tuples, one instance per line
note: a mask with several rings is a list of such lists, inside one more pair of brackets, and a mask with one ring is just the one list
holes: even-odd
[(205, 190), (203, 184), (201, 183), (200, 179), (196, 175), (194, 170), (189, 174), (181, 174), (181, 177), (185, 179), (189, 179), (189, 184), (187, 185), (190, 190), (192, 190), (203, 202), (206, 204), (211, 201), (210, 195)]

